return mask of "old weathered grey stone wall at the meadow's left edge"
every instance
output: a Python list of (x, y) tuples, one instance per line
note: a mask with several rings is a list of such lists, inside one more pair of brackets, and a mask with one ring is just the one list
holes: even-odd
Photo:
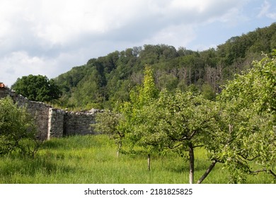
[(28, 100), (8, 88), (1, 89), (0, 98), (11, 96), (20, 107), (26, 107), (38, 126), (38, 136), (41, 139), (62, 137), (76, 134), (96, 134), (91, 128), (99, 110), (88, 112), (69, 112), (53, 108), (45, 103)]

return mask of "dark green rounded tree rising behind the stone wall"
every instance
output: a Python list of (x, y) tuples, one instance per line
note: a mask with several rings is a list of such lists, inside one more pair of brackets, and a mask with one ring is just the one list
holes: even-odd
[(59, 86), (54, 80), (49, 80), (47, 76), (42, 75), (29, 75), (18, 78), (11, 88), (29, 100), (40, 102), (50, 102), (58, 99), (61, 95)]

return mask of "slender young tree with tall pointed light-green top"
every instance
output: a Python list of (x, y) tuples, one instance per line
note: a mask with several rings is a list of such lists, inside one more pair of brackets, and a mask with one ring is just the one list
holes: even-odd
[(151, 142), (146, 137), (150, 131), (144, 131), (144, 117), (142, 112), (154, 100), (158, 98), (159, 91), (154, 83), (153, 70), (146, 65), (144, 71), (144, 81), (142, 86), (137, 87), (130, 93), (130, 102), (125, 102), (122, 105), (120, 113), (122, 114), (122, 122), (120, 122), (120, 129), (124, 131), (125, 142), (129, 146), (127, 153), (146, 153), (148, 157), (148, 170), (151, 169), (151, 153), (155, 151), (158, 142)]

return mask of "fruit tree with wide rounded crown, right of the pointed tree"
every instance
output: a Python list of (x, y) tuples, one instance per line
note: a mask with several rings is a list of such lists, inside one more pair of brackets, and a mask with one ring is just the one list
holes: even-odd
[[(141, 116), (144, 122), (137, 126), (144, 144), (154, 145), (158, 151), (171, 150), (189, 161), (189, 182), (194, 182), (195, 148), (212, 146), (216, 129), (216, 107), (214, 102), (177, 91), (175, 94), (163, 90), (151, 105), (144, 107)], [(155, 144), (153, 144), (155, 143)], [(217, 163), (211, 165), (200, 178), (202, 182)]]

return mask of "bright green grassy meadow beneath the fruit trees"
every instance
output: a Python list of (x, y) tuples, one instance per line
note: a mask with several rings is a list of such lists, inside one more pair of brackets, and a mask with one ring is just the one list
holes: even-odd
[[(209, 166), (205, 152), (195, 153), (195, 180)], [(107, 136), (71, 136), (45, 142), (35, 158), (10, 155), (0, 158), (0, 183), (50, 184), (179, 184), (188, 183), (188, 161), (174, 154), (152, 156), (147, 170), (146, 155), (116, 156)], [(248, 183), (271, 183), (265, 173), (248, 177)], [(222, 165), (217, 164), (203, 183), (228, 183)]]

